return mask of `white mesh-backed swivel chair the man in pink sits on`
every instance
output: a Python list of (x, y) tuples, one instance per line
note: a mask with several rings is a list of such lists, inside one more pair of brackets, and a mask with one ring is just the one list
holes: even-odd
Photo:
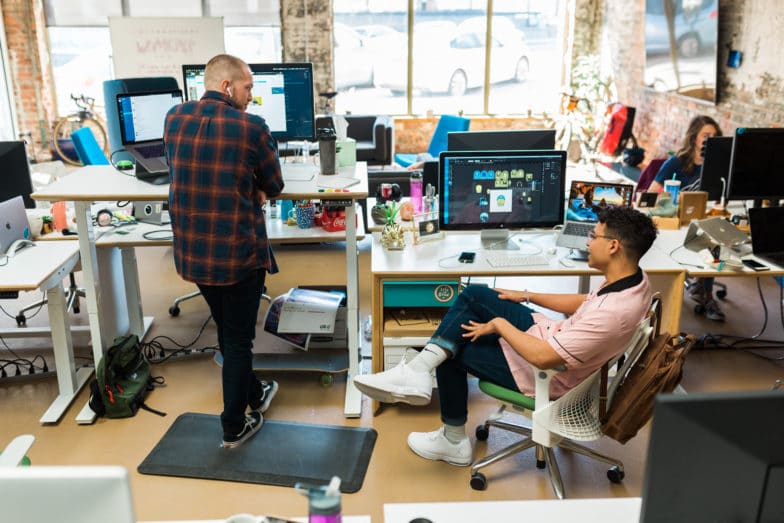
[[(608, 368), (615, 364), (623, 364), (625, 367), (618, 371), (622, 375), (623, 371), (636, 361), (642, 349), (646, 347), (651, 335), (655, 332), (659, 318), (657, 311), (660, 311), (660, 303), (661, 298), (657, 293), (654, 296), (649, 313), (638, 324), (626, 350), (618, 357), (607, 362)], [(596, 441), (603, 436), (599, 419), (599, 405), (604, 395), (601, 383), (603, 369), (597, 369), (569, 392), (556, 400), (551, 400), (549, 399), (550, 380), (558, 372), (560, 372), (558, 369), (539, 370), (534, 367), (536, 398), (547, 398), (544, 401), (541, 399), (535, 400), (519, 391), (501, 387), (487, 380), (479, 380), (479, 388), (482, 392), (500, 400), (502, 403), (495, 414), (476, 428), (476, 439), (479, 441), (486, 440), (490, 434), (490, 427), (508, 430), (526, 436), (526, 438), (476, 461), (471, 466), (471, 487), (473, 489), (484, 490), (487, 488), (487, 478), (479, 472), (479, 469), (531, 447), (536, 449), (537, 468), (545, 468), (545, 466), (548, 468), (550, 484), (553, 492), (559, 499), (563, 499), (565, 494), (561, 472), (553, 452), (554, 447), (571, 450), (572, 452), (607, 463), (611, 465), (607, 470), (607, 479), (613, 483), (620, 483), (623, 480), (624, 470), (621, 461), (577, 443), (578, 441)], [(612, 394), (615, 392), (617, 385), (617, 382), (611, 383), (607, 390), (608, 404), (612, 401)], [(517, 425), (502, 419), (507, 404), (518, 411), (531, 412), (533, 427)]]

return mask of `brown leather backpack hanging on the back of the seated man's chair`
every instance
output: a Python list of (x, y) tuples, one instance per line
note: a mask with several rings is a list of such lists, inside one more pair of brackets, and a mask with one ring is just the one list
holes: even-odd
[[(620, 443), (633, 438), (653, 417), (657, 394), (672, 392), (683, 375), (686, 355), (697, 339), (691, 334), (671, 336), (659, 333), (661, 308), (657, 309), (654, 329), (638, 355), (630, 355), (613, 380), (615, 392), (609, 407), (600, 406), (602, 432)], [(602, 369), (606, 372), (606, 367)], [(606, 383), (604, 376), (603, 383)]]

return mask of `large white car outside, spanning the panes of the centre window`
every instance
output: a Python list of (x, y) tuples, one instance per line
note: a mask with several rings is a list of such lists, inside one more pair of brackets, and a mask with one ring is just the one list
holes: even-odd
[[(469, 18), (455, 24), (421, 22), (414, 26), (414, 90), (463, 96), (484, 84), (486, 19)], [(387, 48), (394, 48), (387, 46)], [(523, 82), (529, 73), (525, 37), (507, 18), (493, 18), (490, 83)], [(386, 56), (374, 75), (376, 87), (406, 89), (406, 58)]]

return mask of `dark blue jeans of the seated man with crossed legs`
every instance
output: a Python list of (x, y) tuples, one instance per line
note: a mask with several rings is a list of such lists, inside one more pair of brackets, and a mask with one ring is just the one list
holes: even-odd
[(447, 311), (430, 343), (449, 351), (451, 358), (436, 369), (441, 421), (464, 425), (468, 419), (468, 373), (502, 387), (518, 390), (497, 334), (474, 342), (463, 338), (460, 325), (469, 320), (486, 323), (502, 317), (522, 331), (534, 324), (531, 309), (498, 299), (498, 292), (482, 285), (469, 285)]

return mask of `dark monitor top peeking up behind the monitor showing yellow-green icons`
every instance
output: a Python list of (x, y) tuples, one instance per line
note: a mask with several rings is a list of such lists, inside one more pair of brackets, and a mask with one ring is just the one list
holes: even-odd
[(448, 151), (553, 150), (555, 129), (451, 132), (446, 143)]

